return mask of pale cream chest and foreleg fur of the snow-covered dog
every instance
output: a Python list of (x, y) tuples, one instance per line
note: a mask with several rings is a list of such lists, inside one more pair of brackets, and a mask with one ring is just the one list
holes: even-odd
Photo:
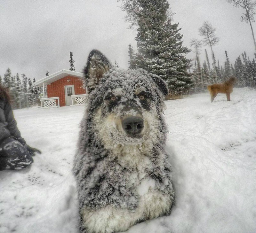
[[(113, 231), (125, 231), (132, 225), (143, 219), (153, 219), (168, 213), (172, 205), (170, 194), (163, 193), (164, 186), (171, 185), (165, 178), (164, 186), (161, 187), (156, 180), (150, 177), (154, 165), (148, 156), (141, 152), (141, 146), (124, 146), (116, 148), (112, 156), (116, 157), (116, 171), (123, 172), (128, 180), (125, 185), (128, 189), (135, 189), (137, 193), (137, 207), (127, 209), (108, 205), (99, 209), (82, 210), (84, 227), (88, 232), (108, 233)], [(164, 155), (159, 156), (159, 160)], [(116, 172), (115, 171), (115, 172)], [(110, 176), (114, 174), (109, 174)], [(135, 197), (131, 197), (135, 198)]]

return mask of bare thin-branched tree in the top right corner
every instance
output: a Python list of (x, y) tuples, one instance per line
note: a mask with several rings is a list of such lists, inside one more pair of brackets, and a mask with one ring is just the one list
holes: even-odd
[(254, 15), (256, 13), (255, 13), (254, 7), (256, 6), (256, 2), (252, 2), (252, 0), (226, 0), (226, 1), (228, 3), (233, 4), (233, 6), (235, 7), (240, 7), (245, 10), (245, 13), (243, 13), (241, 16), (241, 21), (250, 23), (251, 30), (252, 30), (252, 38), (254, 42), (254, 48), (256, 51), (256, 42), (255, 42), (255, 37), (252, 29), (252, 22), (255, 22)]

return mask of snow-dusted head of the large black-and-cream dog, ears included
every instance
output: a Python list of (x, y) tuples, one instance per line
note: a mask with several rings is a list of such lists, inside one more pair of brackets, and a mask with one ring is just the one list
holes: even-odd
[[(164, 94), (168, 93), (165, 82), (143, 69), (107, 71), (107, 65), (100, 59), (103, 55), (93, 51), (85, 74), (91, 91), (88, 111), (92, 113), (95, 135), (107, 149), (125, 145), (150, 147), (161, 139), (164, 130), (161, 112)], [(97, 59), (99, 66), (95, 65)], [(97, 71), (99, 67), (103, 67), (105, 73)], [(102, 77), (96, 78), (95, 74)]]

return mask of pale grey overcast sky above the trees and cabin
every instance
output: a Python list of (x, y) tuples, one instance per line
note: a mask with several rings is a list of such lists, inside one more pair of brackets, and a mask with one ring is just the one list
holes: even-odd
[[(200, 39), (198, 28), (208, 20), (220, 37), (213, 50), (222, 66), (225, 50), (233, 64), (243, 51), (254, 57), (250, 25), (240, 21), (242, 9), (225, 0), (169, 0), (169, 4), (173, 22), (182, 27), (184, 46), (190, 48), (191, 39)], [(136, 49), (136, 32), (127, 29), (119, 5), (117, 0), (0, 0), (0, 75), (9, 67), (12, 74), (41, 79), (46, 70), (52, 74), (68, 69), (70, 51), (76, 71), (81, 72), (92, 49), (128, 68), (128, 44)], [(256, 33), (256, 23), (253, 29)], [(204, 48), (200, 56), (203, 61)], [(188, 54), (194, 57), (193, 52)]]

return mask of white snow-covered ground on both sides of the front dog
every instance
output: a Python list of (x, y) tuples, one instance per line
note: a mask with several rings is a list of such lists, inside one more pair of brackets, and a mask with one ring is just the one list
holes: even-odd
[[(168, 217), (128, 233), (256, 232), (256, 91), (231, 101), (208, 93), (166, 101), (166, 149), (176, 203)], [(42, 150), (27, 171), (0, 172), (0, 233), (76, 233), (71, 173), (84, 106), (15, 110), (22, 136)]]

